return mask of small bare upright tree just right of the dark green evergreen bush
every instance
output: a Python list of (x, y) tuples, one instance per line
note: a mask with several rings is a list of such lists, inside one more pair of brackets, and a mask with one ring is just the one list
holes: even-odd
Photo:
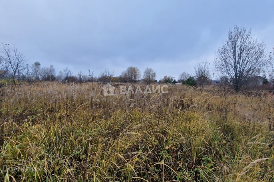
[(204, 89), (204, 86), (206, 84), (209, 84), (209, 77), (210, 77), (210, 72), (209, 72), (209, 63), (207, 61), (203, 61), (202, 63), (198, 62), (194, 66), (194, 74), (196, 78), (196, 84), (199, 86), (200, 90)]

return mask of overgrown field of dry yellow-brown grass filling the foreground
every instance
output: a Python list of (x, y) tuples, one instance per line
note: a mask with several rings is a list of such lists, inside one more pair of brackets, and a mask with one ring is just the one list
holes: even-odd
[(274, 181), (273, 95), (115, 86), (0, 88), (0, 181)]

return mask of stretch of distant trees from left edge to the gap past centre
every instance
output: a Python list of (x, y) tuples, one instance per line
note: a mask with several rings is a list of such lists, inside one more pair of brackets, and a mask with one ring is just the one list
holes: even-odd
[[(39, 62), (32, 65), (26, 64), (27, 59), (25, 55), (18, 51), (15, 46), (11, 47), (9, 44), (2, 44), (0, 54), (0, 79), (5, 80), (6, 83), (20, 85), (26, 81), (29, 85), (37, 81), (60, 81), (70, 84), (71, 82), (137, 82), (142, 81), (147, 84), (155, 82), (156, 72), (152, 68), (144, 70), (143, 75), (137, 67), (128, 67), (121, 73), (119, 77), (114, 77), (114, 72), (105, 69), (99, 75), (95, 75), (93, 70), (89, 70), (88, 74), (79, 71), (76, 75), (65, 67), (59, 74), (56, 75), (53, 65), (49, 67), (41, 67)], [(3, 82), (2, 82), (3, 84)]]

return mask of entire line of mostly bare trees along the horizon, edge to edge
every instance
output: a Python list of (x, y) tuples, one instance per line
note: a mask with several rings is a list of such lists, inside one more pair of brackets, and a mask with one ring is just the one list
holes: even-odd
[[(18, 51), (15, 46), (2, 43), (0, 54), (0, 79), (7, 80), (12, 84), (20, 85), (21, 82), (27, 81), (29, 85), (36, 81), (53, 81), (60, 82), (144, 82), (150, 84), (157, 82), (156, 72), (152, 68), (146, 68), (143, 73), (134, 66), (128, 67), (120, 76), (115, 77), (113, 71), (105, 69), (99, 75), (95, 75), (93, 70), (88, 73), (79, 71), (73, 75), (72, 71), (66, 67), (55, 73), (53, 65), (42, 67), (39, 62), (32, 65), (26, 64), (25, 55)], [(269, 55), (266, 53), (266, 45), (259, 42), (252, 34), (251, 30), (245, 27), (235, 26), (228, 32), (228, 39), (223, 42), (221, 47), (216, 51), (214, 68), (221, 82), (233, 88), (236, 91), (244, 89), (249, 80), (261, 73), (268, 73), (269, 79), (274, 80), (274, 48)], [(208, 84), (211, 73), (207, 61), (198, 62), (194, 66), (194, 73), (183, 72), (179, 75), (182, 84), (197, 85), (202, 90)], [(158, 82), (175, 83), (172, 76), (164, 76)]]

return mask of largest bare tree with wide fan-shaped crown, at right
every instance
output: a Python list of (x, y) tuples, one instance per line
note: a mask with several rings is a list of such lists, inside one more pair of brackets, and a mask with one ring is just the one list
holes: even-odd
[(244, 27), (234, 27), (228, 40), (219, 48), (215, 57), (215, 70), (226, 76), (238, 91), (258, 75), (267, 64), (265, 44), (259, 43)]

